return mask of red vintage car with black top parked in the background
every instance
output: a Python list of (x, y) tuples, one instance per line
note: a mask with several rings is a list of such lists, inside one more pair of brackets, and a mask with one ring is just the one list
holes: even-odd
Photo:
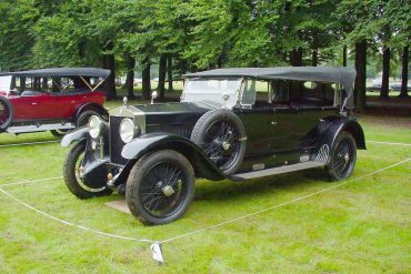
[(43, 69), (11, 72), (0, 79), (0, 132), (50, 130), (62, 135), (104, 115), (106, 94), (99, 90), (109, 70)]

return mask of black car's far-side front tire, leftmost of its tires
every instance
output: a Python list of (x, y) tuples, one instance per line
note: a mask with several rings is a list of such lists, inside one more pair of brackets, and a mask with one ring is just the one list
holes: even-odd
[(63, 177), (69, 191), (79, 199), (88, 199), (93, 196), (106, 196), (112, 193), (112, 190), (104, 186), (100, 189), (91, 189), (83, 184), (78, 174), (78, 168), (81, 165), (82, 156), (86, 151), (86, 142), (77, 143), (66, 158), (63, 165)]

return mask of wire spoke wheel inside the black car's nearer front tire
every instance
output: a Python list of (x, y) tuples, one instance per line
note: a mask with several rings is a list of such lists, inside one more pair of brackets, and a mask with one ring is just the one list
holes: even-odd
[(179, 210), (187, 193), (188, 183), (182, 170), (172, 162), (160, 162), (146, 173), (140, 199), (148, 213), (167, 217)]

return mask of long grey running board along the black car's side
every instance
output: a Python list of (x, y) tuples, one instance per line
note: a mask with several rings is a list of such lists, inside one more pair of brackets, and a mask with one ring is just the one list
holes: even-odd
[(261, 171), (240, 173), (240, 174), (232, 175), (231, 179), (234, 181), (238, 181), (238, 180), (264, 177), (264, 176), (271, 176), (271, 175), (293, 172), (293, 171), (301, 171), (301, 170), (308, 170), (312, 168), (319, 168), (323, 165), (324, 163), (321, 163), (321, 162), (309, 161), (309, 162), (283, 165), (283, 166), (272, 168), (272, 169), (267, 169), (267, 170), (261, 170)]

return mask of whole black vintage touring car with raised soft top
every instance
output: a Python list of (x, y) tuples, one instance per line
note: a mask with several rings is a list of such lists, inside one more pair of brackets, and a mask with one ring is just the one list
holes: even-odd
[(364, 134), (352, 115), (355, 71), (347, 68), (218, 69), (184, 75), (179, 103), (124, 105), (109, 121), (66, 135), (69, 190), (86, 199), (126, 194), (144, 224), (181, 217), (196, 179), (269, 176), (325, 166), (353, 172)]

